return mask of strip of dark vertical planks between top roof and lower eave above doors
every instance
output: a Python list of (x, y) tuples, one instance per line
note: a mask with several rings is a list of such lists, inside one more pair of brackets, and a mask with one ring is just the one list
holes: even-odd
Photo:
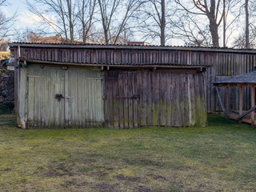
[(70, 49), (21, 47), (21, 58), (49, 62), (122, 65), (210, 66), (214, 53), (190, 50)]

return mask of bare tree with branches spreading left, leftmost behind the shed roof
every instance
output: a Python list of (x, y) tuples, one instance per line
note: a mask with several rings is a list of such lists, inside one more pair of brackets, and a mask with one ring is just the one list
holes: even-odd
[[(26, 0), (32, 13), (42, 18), (42, 22), (50, 26), (58, 34), (64, 34), (66, 42), (74, 42), (76, 2), (72, 0)], [(49, 14), (54, 15), (57, 21), (50, 20)]]

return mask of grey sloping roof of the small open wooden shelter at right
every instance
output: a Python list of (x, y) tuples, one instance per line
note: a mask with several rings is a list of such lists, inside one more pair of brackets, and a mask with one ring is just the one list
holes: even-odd
[(226, 84), (226, 83), (256, 83), (256, 71), (248, 74), (241, 74), (232, 78), (226, 78), (218, 82), (212, 82), (214, 84)]

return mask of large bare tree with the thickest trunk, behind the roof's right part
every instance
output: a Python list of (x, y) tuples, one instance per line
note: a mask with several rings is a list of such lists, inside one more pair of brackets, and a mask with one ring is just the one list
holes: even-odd
[(175, 0), (178, 5), (190, 14), (205, 15), (208, 18), (212, 45), (219, 46), (218, 26), (220, 26), (225, 15), (225, 0), (191, 0), (192, 7), (185, 6), (182, 0)]

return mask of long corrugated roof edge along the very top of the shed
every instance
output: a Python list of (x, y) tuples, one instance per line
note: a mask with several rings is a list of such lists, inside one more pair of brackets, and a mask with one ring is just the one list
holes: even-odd
[(11, 42), (10, 48), (15, 46), (23, 47), (51, 47), (51, 48), (77, 48), (77, 49), (126, 49), (126, 50), (194, 50), (206, 52), (230, 52), (256, 54), (256, 50), (233, 49), (222, 47), (200, 47), (200, 46), (137, 46), (137, 45), (102, 45), (102, 44), (60, 44), (60, 43), (32, 43), (32, 42)]

